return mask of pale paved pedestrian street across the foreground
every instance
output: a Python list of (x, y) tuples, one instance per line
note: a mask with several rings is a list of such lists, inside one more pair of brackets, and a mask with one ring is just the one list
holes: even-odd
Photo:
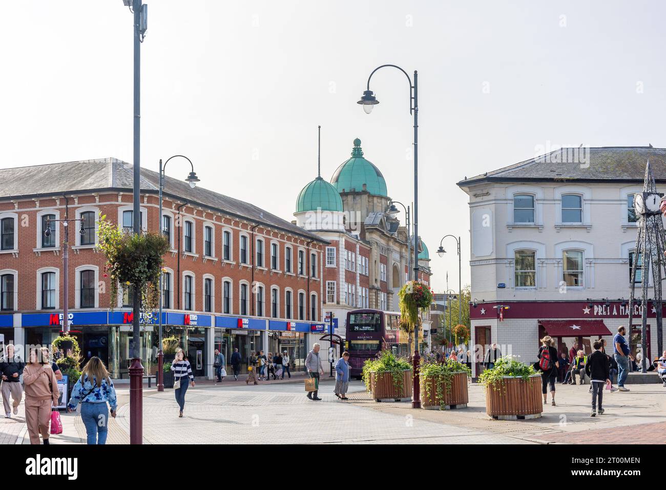
[[(485, 413), (484, 391), (470, 385), (467, 409), (414, 410), (410, 403), (376, 403), (359, 381), (350, 384), (349, 401), (322, 381), (322, 401), (305, 397), (301, 383), (246, 386), (198, 385), (186, 395), (184, 417), (172, 390), (145, 389), (143, 434), (146, 444), (253, 443), (663, 443), (666, 389), (632, 385), (629, 393), (605, 396), (606, 413), (589, 417), (586, 386), (557, 386), (557, 403), (545, 405), (543, 417), (528, 421), (494, 421)], [(129, 443), (129, 389), (119, 385), (117, 419), (109, 422), (109, 444)], [(64, 432), (53, 444), (85, 443), (81, 417), (62, 413)], [(630, 425), (631, 432), (627, 433)], [(23, 403), (19, 415), (1, 419), (2, 443), (29, 444)]]

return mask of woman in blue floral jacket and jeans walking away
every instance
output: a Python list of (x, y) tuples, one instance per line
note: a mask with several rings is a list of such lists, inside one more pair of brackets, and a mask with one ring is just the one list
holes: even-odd
[[(111, 417), (116, 418), (116, 390), (111, 382), (107, 367), (93, 356), (81, 371), (79, 381), (72, 389), (72, 397), (67, 411), (72, 412), (81, 403), (81, 420), (85, 425), (89, 444), (106, 444), (109, 427), (109, 407)], [(107, 407), (109, 403), (109, 407)]]

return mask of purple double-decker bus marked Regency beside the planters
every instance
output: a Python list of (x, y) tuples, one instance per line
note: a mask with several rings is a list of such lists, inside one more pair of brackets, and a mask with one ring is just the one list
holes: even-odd
[(361, 379), (363, 363), (384, 350), (396, 357), (409, 355), (407, 334), (400, 330), (400, 313), (378, 309), (355, 309), (347, 312), (346, 344), (350, 376)]

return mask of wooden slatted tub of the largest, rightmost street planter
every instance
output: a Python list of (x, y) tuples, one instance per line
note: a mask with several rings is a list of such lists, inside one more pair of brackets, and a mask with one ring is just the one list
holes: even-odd
[(541, 375), (522, 377), (505, 376), (503, 386), (486, 386), (486, 413), (498, 420), (537, 419), (543, 412), (541, 401)]

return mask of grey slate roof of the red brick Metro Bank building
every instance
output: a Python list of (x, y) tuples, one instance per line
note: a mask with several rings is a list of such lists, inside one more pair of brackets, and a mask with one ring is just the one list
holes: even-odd
[[(0, 199), (25, 199), (101, 191), (132, 191), (133, 165), (117, 158), (70, 161), (0, 169)], [(141, 169), (141, 190), (159, 192), (159, 172)], [(264, 209), (196, 186), (165, 177), (164, 195), (187, 199), (190, 203), (216, 209), (254, 223), (295, 233), (320, 243), (328, 241)]]

